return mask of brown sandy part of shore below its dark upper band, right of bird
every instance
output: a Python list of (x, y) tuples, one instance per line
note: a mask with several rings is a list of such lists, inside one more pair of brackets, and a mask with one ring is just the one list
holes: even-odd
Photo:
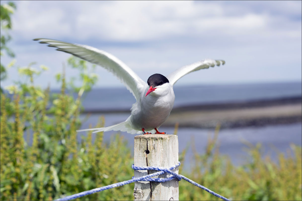
[(221, 128), (261, 127), (265, 125), (291, 124), (302, 122), (301, 103), (273, 106), (230, 108), (223, 110), (195, 110), (171, 112), (163, 126)]

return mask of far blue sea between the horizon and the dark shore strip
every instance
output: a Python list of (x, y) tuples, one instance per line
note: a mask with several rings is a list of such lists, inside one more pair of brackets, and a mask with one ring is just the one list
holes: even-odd
[[(301, 82), (174, 86), (174, 107), (301, 96)], [(93, 89), (83, 99), (85, 109), (129, 110), (136, 100), (126, 87)]]

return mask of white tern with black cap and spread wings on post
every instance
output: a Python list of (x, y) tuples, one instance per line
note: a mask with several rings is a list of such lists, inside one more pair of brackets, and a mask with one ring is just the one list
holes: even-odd
[(158, 129), (167, 120), (173, 108), (175, 100), (173, 86), (177, 80), (191, 72), (225, 64), (224, 60), (204, 59), (183, 66), (166, 77), (162, 74), (153, 74), (146, 83), (117, 57), (103, 50), (54, 39), (36, 38), (33, 40), (47, 43), (49, 47), (55, 47), (58, 51), (67, 52), (100, 65), (114, 74), (136, 99), (130, 109), (131, 115), (126, 121), (108, 127), (77, 130), (77, 132), (92, 130), (92, 133), (97, 133), (114, 130), (131, 134), (140, 134), (141, 132), (143, 134), (166, 134), (159, 132)]

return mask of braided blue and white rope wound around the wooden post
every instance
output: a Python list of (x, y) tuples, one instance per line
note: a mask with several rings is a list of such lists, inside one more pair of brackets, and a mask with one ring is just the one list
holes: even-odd
[[(189, 183), (191, 184), (194, 184), (195, 186), (207, 191), (208, 193), (211, 193), (212, 195), (216, 196), (216, 197), (219, 197), (223, 200), (229, 200), (213, 191), (211, 191), (210, 189), (200, 185), (200, 184), (197, 184), (196, 182), (192, 181), (191, 179), (188, 179), (187, 177), (181, 175), (181, 174), (176, 174), (175, 172), (171, 171), (172, 169), (175, 169), (176, 167), (178, 167), (180, 165), (180, 162), (178, 162), (177, 164), (173, 165), (172, 167), (170, 168), (162, 168), (162, 167), (137, 167), (137, 166), (134, 166), (132, 165), (132, 168), (133, 170), (158, 170), (159, 172), (156, 172), (156, 173), (153, 173), (153, 174), (148, 174), (146, 176), (143, 176), (143, 177), (132, 177), (132, 179), (130, 180), (127, 180), (127, 181), (122, 181), (122, 182), (118, 182), (118, 183), (115, 183), (115, 184), (111, 184), (111, 185), (108, 185), (108, 186), (103, 186), (103, 187), (99, 187), (99, 188), (95, 188), (95, 189), (92, 189), (92, 190), (86, 190), (84, 192), (81, 192), (81, 193), (77, 193), (77, 194), (74, 194), (74, 195), (71, 195), (71, 196), (66, 196), (66, 197), (63, 197), (63, 198), (59, 198), (59, 199), (56, 199), (56, 200), (71, 200), (71, 199), (76, 199), (78, 197), (82, 197), (82, 196), (85, 196), (85, 195), (90, 195), (92, 193), (97, 193), (97, 192), (100, 192), (100, 191), (103, 191), (103, 190), (108, 190), (108, 189), (111, 189), (111, 188), (114, 188), (114, 187), (119, 187), (119, 186), (123, 186), (125, 184), (130, 184), (130, 183), (133, 183), (133, 182), (136, 182), (136, 181), (155, 181), (155, 182), (166, 182), (166, 181), (171, 181), (175, 178), (178, 179), (178, 181), (184, 179), (185, 181), (188, 181)], [(158, 176), (160, 174), (164, 174), (164, 173), (169, 173), (169, 174), (172, 174), (173, 176), (172, 177), (169, 177), (169, 178), (151, 178), (151, 177), (154, 177), (154, 176)]]

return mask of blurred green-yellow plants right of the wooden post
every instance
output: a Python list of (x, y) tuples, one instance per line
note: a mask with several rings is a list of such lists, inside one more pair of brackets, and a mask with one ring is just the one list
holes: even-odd
[[(292, 144), (287, 157), (283, 153), (278, 154), (276, 164), (269, 156), (262, 159), (260, 144), (249, 144), (246, 164), (234, 166), (230, 159), (219, 153), (216, 142), (218, 130), (219, 126), (213, 139), (209, 137), (204, 154), (197, 153), (192, 147), (191, 171), (180, 170), (180, 174), (231, 200), (301, 200), (301, 147)], [(179, 200), (221, 199), (180, 181)]]

